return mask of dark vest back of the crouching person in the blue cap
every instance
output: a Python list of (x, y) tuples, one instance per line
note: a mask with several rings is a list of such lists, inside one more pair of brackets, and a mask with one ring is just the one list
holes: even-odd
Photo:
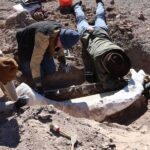
[[(18, 41), (18, 54), (21, 61), (30, 61), (37, 33), (45, 36), (53, 34), (54, 29), (60, 29), (61, 25), (54, 21), (41, 21), (33, 23), (16, 33)], [(43, 43), (44, 44), (44, 43)]]

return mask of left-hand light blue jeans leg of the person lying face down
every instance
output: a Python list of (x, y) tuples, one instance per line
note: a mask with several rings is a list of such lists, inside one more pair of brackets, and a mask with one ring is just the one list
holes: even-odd
[(76, 16), (76, 23), (77, 23), (77, 29), (78, 32), (80, 33), (80, 35), (82, 35), (82, 33), (87, 30), (90, 25), (88, 24), (87, 20), (86, 20), (86, 16), (82, 10), (82, 6), (80, 4), (76, 4), (74, 6), (74, 13)]

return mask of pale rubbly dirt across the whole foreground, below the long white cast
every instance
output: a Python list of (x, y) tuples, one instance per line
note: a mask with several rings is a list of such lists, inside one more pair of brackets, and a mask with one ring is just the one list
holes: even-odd
[[(148, 117), (148, 115), (147, 115)], [(50, 131), (56, 124), (61, 131), (77, 135), (77, 150), (115, 150), (149, 148), (149, 123), (140, 121), (130, 126), (98, 123), (74, 118), (53, 106), (24, 107), (17, 113), (0, 116), (0, 149), (69, 150), (68, 138)]]

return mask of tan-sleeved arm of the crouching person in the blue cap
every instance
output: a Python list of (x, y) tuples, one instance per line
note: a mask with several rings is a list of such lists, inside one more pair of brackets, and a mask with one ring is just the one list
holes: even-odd
[(35, 44), (30, 62), (33, 78), (40, 76), (40, 64), (48, 45), (49, 45), (49, 36), (46, 36), (41, 32), (37, 32), (35, 34)]

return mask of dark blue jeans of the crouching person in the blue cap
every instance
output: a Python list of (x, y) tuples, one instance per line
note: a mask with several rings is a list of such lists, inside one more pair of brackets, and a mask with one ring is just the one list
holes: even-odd
[[(23, 75), (28, 78), (32, 78), (30, 62), (21, 62), (20, 64), (21, 71)], [(47, 53), (44, 54), (43, 60), (40, 65), (41, 68), (41, 79), (47, 75), (51, 75), (56, 72), (56, 66), (53, 57), (50, 57)]]

